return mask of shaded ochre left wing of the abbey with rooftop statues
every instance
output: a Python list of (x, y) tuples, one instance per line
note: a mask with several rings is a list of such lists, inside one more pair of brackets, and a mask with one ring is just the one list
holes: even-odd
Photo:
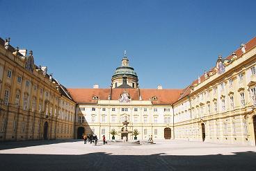
[(0, 141), (74, 138), (76, 103), (33, 52), (0, 39)]

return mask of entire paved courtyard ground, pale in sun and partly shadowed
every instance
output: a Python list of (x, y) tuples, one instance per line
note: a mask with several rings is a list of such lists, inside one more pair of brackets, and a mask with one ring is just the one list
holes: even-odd
[(0, 170), (256, 170), (256, 147), (187, 141), (0, 143)]

